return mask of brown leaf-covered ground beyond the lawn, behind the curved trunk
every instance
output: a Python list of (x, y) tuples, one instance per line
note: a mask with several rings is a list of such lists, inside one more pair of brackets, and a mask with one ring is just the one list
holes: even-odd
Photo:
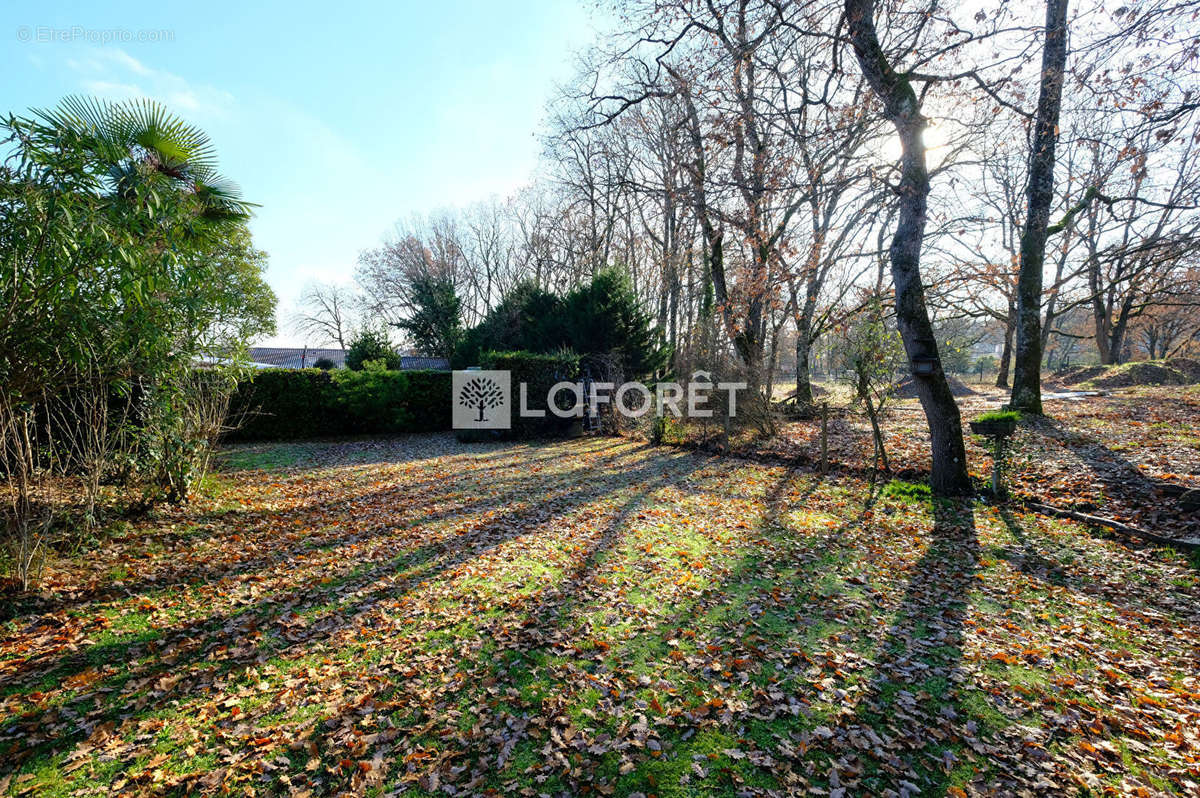
[[(964, 427), (995, 410), (1008, 395), (972, 383), (959, 400)], [(1046, 389), (1062, 396), (1072, 386)], [(869, 469), (870, 426), (858, 408), (834, 394), (829, 425), (833, 464)], [(1026, 420), (1010, 444), (1008, 482), (1018, 497), (1102, 515), (1147, 532), (1200, 540), (1200, 512), (1180, 493), (1200, 488), (1200, 388), (1132, 388), (1102, 396), (1049, 398), (1048, 416)], [(929, 470), (929, 433), (916, 400), (896, 402), (883, 424), (892, 467)], [(776, 438), (737, 444), (744, 454), (820, 462), (820, 422), (786, 424)], [(991, 476), (991, 443), (967, 434), (971, 473), (980, 486)], [(1170, 488), (1170, 490), (1164, 490)], [(1200, 502), (1198, 496), (1193, 502)]]

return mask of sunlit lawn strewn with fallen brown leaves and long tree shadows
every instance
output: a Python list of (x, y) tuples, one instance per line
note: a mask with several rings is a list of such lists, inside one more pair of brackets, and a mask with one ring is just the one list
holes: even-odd
[(0, 794), (1196, 794), (1200, 571), (619, 439), (233, 449), (0, 626)]

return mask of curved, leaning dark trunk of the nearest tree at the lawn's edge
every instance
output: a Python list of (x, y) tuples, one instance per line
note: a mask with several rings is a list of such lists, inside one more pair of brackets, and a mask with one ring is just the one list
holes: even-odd
[[(880, 46), (875, 30), (875, 0), (845, 1), (850, 38), (863, 77), (883, 101), (884, 113), (900, 136), (899, 218), (888, 252), (900, 337), (910, 362), (919, 355), (936, 358), (937, 342), (920, 278), (920, 245), (929, 200), (929, 170), (922, 140), (925, 118), (911, 82), (892, 68)], [(966, 496), (971, 493), (971, 478), (962, 444), (962, 419), (946, 373), (938, 368), (929, 377), (914, 374), (913, 384), (932, 439), (930, 487), (938, 496)]]

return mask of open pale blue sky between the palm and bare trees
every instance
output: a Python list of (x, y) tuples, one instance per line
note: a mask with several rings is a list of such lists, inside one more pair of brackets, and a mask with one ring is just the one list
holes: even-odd
[(546, 101), (595, 36), (571, 0), (53, 5), (0, 4), (0, 110), (149, 96), (203, 127), (262, 204), (281, 316), (396, 220), (524, 184)]

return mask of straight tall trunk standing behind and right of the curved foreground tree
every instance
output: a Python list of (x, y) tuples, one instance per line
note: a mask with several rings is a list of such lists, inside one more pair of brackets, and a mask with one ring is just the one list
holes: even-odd
[(1016, 364), (1013, 370), (1014, 409), (1042, 415), (1042, 280), (1046, 257), (1046, 227), (1054, 203), (1055, 143), (1067, 66), (1067, 0), (1046, 0), (1045, 42), (1042, 44), (1042, 86), (1038, 96), (1026, 214), (1021, 227), (1021, 265), (1016, 277)]

